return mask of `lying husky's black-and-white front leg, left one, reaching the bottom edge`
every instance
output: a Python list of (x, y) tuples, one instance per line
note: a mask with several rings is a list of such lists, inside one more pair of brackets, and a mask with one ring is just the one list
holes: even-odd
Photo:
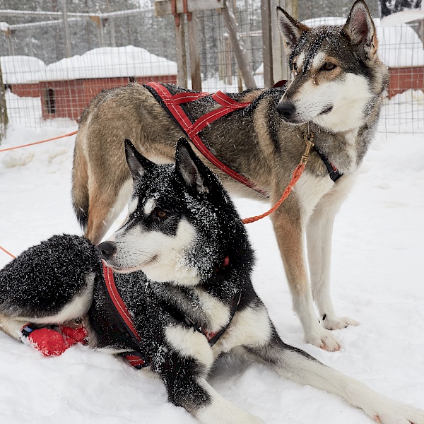
[(170, 326), (165, 331), (169, 348), (158, 364), (169, 400), (204, 424), (263, 424), (259, 418), (231, 404), (206, 381), (215, 360), (203, 334)]

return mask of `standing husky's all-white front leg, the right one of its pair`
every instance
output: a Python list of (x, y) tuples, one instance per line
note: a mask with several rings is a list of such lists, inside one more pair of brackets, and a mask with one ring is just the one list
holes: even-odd
[(343, 175), (331, 192), (314, 209), (307, 224), (307, 252), (310, 264), (312, 295), (319, 310), (322, 326), (329, 330), (358, 325), (349, 317), (338, 317), (330, 295), (331, 237), (334, 218), (346, 198), (355, 177)]

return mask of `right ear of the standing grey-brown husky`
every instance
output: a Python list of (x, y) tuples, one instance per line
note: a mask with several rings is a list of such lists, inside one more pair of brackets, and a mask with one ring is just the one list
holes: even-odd
[(377, 31), (365, 1), (355, 1), (343, 31), (351, 39), (353, 46), (365, 53), (365, 57), (375, 55), (378, 47)]

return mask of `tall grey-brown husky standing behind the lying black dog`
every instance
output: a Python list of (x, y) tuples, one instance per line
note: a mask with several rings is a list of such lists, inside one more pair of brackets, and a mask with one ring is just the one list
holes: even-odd
[[(199, 135), (218, 160), (268, 199), (213, 167), (231, 194), (275, 204), (305, 151), (308, 128), (313, 132), (315, 147), (306, 170), (271, 220), (305, 340), (337, 351), (341, 343), (329, 330), (358, 322), (338, 316), (331, 301), (334, 216), (372, 141), (389, 74), (377, 57), (376, 30), (364, 1), (355, 2), (343, 26), (307, 28), (281, 8), (277, 13), (292, 70), (290, 83), (230, 95), (252, 103), (205, 126)], [(165, 86), (174, 93), (184, 90)], [(184, 107), (198, 119), (219, 105), (205, 97)], [(90, 102), (76, 138), (72, 197), (91, 242), (102, 240), (131, 195), (122, 136), (146, 158), (167, 163), (174, 157), (174, 140), (182, 135), (144, 86), (105, 90)], [(330, 164), (343, 174), (336, 182), (329, 177)]]

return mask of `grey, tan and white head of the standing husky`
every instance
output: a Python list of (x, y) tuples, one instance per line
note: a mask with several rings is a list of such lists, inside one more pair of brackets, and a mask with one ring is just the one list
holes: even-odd
[(279, 7), (277, 15), (291, 69), (277, 106), (281, 117), (331, 132), (362, 126), (389, 78), (377, 56), (375, 25), (365, 2), (355, 1), (345, 25), (308, 28)]

